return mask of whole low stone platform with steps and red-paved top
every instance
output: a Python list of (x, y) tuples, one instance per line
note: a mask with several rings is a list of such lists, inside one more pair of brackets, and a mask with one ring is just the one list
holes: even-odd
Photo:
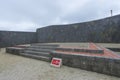
[[(17, 46), (16, 46), (17, 47)], [(31, 44), (27, 47), (6, 48), (7, 53), (50, 62), (61, 58), (63, 64), (120, 77), (120, 56), (111, 50), (89, 43), (88, 48), (64, 47), (57, 44)]]

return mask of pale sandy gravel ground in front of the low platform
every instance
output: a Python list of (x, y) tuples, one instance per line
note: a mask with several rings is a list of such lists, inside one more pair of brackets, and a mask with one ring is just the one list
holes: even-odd
[(118, 77), (7, 54), (0, 51), (0, 80), (120, 80)]

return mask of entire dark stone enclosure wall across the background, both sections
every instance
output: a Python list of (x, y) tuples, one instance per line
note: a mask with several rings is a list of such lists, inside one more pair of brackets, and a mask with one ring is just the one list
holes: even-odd
[(36, 32), (0, 31), (0, 47), (37, 42), (120, 43), (119, 30), (120, 15), (84, 23), (43, 27)]

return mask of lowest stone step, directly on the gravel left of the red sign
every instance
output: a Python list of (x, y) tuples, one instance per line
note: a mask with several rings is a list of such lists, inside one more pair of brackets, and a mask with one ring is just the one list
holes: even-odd
[(20, 53), (20, 55), (33, 58), (33, 59), (39, 59), (39, 60), (50, 62), (50, 57), (38, 56), (38, 55), (29, 54), (29, 53)]

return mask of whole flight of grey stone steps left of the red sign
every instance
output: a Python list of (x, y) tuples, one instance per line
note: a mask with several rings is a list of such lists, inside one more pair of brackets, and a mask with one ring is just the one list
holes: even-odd
[(31, 46), (25, 48), (20, 55), (49, 62), (51, 61), (51, 51), (58, 46), (59, 45), (51, 44), (31, 44)]

